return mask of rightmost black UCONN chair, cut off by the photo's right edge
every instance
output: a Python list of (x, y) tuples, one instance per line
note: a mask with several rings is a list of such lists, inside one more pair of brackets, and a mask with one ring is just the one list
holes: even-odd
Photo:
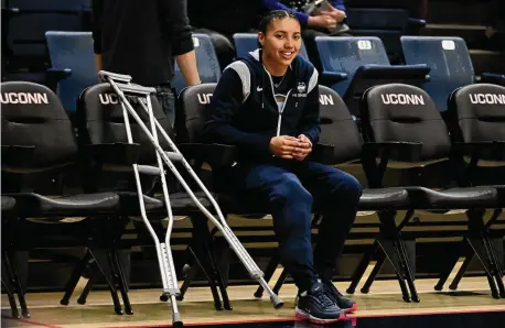
[[(505, 165), (505, 88), (496, 85), (477, 84), (461, 87), (454, 90), (449, 98), (449, 109), (444, 113), (444, 120), (451, 133), (454, 144), (454, 160), (458, 166), (462, 167), (460, 185), (480, 185), (476, 173), (479, 167), (497, 167)], [(501, 207), (497, 208), (491, 219), (482, 226), (482, 233), (488, 242), (494, 272), (496, 280), (501, 280), (504, 274), (504, 261), (497, 254), (495, 247), (491, 247), (492, 239), (501, 244), (503, 231), (497, 230), (493, 233), (493, 226), (505, 207), (505, 179), (499, 179), (499, 174), (495, 176), (497, 181), (492, 187), (498, 189)], [(474, 248), (475, 242), (466, 239), (466, 244)], [(503, 252), (503, 243), (499, 249)], [(460, 254), (456, 254), (458, 261)], [(475, 253), (469, 249), (465, 260), (461, 265), (456, 276), (450, 284), (450, 289), (456, 289), (458, 284), (464, 276)], [(442, 272), (436, 285), (437, 291), (441, 291), (445, 281), (449, 278), (454, 265), (448, 266)], [(504, 294), (501, 295), (504, 297)]]

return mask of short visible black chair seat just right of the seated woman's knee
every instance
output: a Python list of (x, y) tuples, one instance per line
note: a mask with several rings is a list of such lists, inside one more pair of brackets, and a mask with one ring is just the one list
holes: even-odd
[(406, 209), (409, 195), (405, 188), (363, 189), (358, 210)]

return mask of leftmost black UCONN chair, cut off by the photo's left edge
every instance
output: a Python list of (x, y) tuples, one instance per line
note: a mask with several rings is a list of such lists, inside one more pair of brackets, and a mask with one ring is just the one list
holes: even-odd
[[(89, 227), (98, 227), (114, 231), (115, 222), (107, 223), (107, 218), (117, 217), (120, 210), (119, 197), (114, 193), (77, 193), (60, 197), (57, 194), (34, 193), (34, 177), (39, 173), (53, 173), (55, 185), (60, 186), (62, 194), (66, 194), (63, 184), (69, 171), (76, 172), (77, 143), (73, 127), (56, 95), (47, 87), (33, 83), (3, 83), (2, 97), (2, 192), (3, 196), (15, 200), (15, 220), (7, 219), (2, 223), (9, 225), (8, 238), (2, 239), (2, 250), (11, 269), (11, 281), (15, 282), (15, 292), (20, 298), (21, 311), (29, 316), (24, 291), (20, 284), (15, 269), (17, 252), (25, 242), (37, 240), (35, 231), (24, 229), (26, 219), (36, 218), (44, 222), (74, 225), (75, 238), (83, 244), (89, 244), (94, 250), (99, 249), (89, 237), (96, 237)], [(6, 176), (10, 184), (6, 183)], [(86, 218), (82, 223), (65, 222), (67, 217)], [(58, 225), (56, 225), (58, 226)], [(56, 229), (56, 228), (55, 228)], [(98, 229), (100, 230), (100, 229)], [(112, 237), (107, 237), (104, 244), (107, 249)], [(115, 255), (114, 250), (110, 251)], [(105, 260), (105, 261), (101, 261)], [(97, 260), (100, 270), (111, 272), (107, 259)], [(110, 285), (115, 296), (115, 306), (119, 300), (115, 295), (116, 289)]]

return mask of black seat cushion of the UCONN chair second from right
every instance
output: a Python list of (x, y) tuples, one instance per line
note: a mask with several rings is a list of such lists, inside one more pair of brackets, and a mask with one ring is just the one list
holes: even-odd
[(432, 190), (425, 187), (407, 187), (410, 203), (417, 209), (494, 208), (498, 195), (493, 187), (468, 187)]

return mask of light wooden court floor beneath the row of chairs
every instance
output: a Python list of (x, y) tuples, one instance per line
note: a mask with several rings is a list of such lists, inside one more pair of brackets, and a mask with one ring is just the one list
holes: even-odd
[[(63, 293), (30, 293), (26, 300), (31, 318), (11, 319), (9, 303), (2, 295), (2, 327), (47, 327), (47, 328), (122, 328), (122, 327), (170, 327), (172, 322), (170, 303), (159, 300), (158, 289), (132, 289), (130, 299), (133, 315), (117, 316), (114, 313), (110, 294), (93, 291), (85, 305), (76, 303), (86, 280), (82, 280), (68, 306), (60, 305)], [(273, 282), (271, 282), (273, 283)], [(505, 299), (493, 299), (485, 277), (465, 277), (459, 291), (436, 292), (437, 280), (418, 280), (420, 303), (405, 303), (398, 283), (393, 280), (376, 281), (370, 293), (357, 289), (353, 298), (358, 310), (345, 322), (332, 327), (505, 327)], [(344, 292), (348, 282), (337, 282)], [(228, 293), (233, 310), (215, 310), (211, 291), (207, 287), (192, 287), (184, 300), (179, 302), (184, 326), (191, 327), (316, 327), (294, 318), (296, 287), (286, 284), (280, 296), (286, 302), (276, 310), (269, 299), (253, 296), (256, 286), (230, 286)]]

